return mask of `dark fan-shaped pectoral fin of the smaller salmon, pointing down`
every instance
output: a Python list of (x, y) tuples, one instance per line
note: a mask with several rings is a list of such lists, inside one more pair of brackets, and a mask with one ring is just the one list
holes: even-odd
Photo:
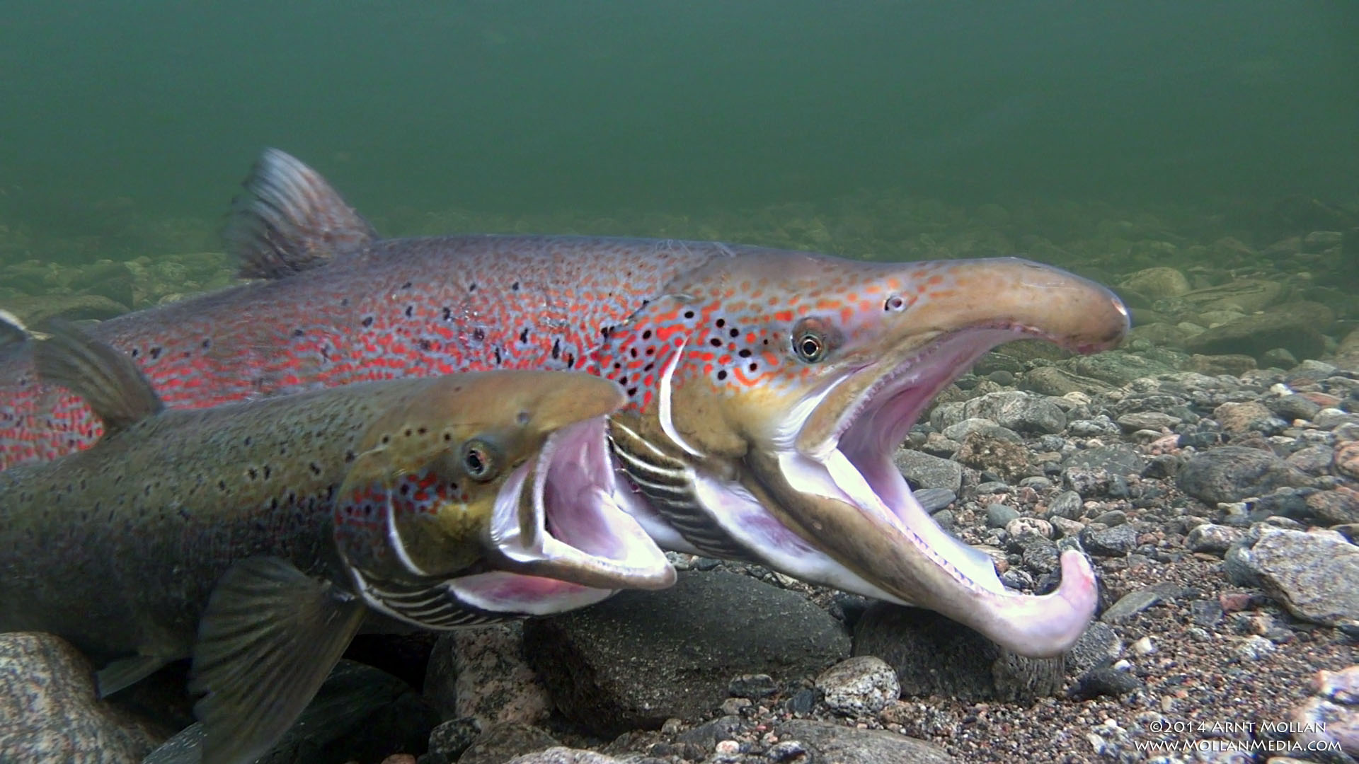
[(217, 582), (198, 627), (189, 691), (204, 764), (254, 761), (292, 726), (363, 621), (363, 605), (277, 557)]

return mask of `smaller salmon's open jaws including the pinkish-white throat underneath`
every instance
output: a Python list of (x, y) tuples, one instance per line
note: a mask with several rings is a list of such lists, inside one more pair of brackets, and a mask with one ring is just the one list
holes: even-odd
[(553, 432), (537, 459), (515, 468), (488, 529), (489, 572), (459, 576), (450, 591), (473, 608), (548, 614), (590, 605), (620, 589), (665, 589), (675, 571), (613, 493), (605, 421)]

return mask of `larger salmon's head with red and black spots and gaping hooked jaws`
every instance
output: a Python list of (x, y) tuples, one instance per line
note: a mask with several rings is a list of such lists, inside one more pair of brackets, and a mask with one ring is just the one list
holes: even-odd
[(1118, 344), (1118, 298), (1018, 258), (771, 250), (715, 258), (666, 294), (616, 338), (650, 367), (613, 370), (632, 397), (612, 438), (694, 546), (925, 606), (1019, 654), (1074, 643), (1095, 606), (1089, 561), (1067, 552), (1052, 594), (1007, 590), (987, 555), (934, 523), (892, 457), (928, 402), (1002, 343)]

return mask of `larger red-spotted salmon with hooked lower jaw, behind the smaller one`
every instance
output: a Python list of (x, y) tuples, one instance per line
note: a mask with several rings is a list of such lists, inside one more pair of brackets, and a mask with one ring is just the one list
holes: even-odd
[[(984, 555), (930, 519), (890, 457), (930, 400), (998, 344), (1117, 345), (1128, 314), (1104, 287), (1017, 258), (382, 239), (321, 175), (273, 150), (246, 188), (228, 246), (264, 281), (95, 329), (169, 405), (480, 368), (583, 370), (628, 396), (607, 432), (626, 480), (591, 493), (663, 548), (932, 608), (1025, 655), (1070, 647), (1093, 614), (1083, 555), (1063, 555), (1052, 594), (1007, 590)], [(0, 396), (7, 464), (98, 432), (79, 401), (48, 397), (22, 348), (0, 362)]]

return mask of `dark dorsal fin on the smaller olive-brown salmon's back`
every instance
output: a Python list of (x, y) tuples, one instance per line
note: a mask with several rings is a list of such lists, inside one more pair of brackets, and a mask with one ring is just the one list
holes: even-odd
[(67, 322), (53, 322), (49, 332), (33, 351), (38, 377), (84, 398), (106, 434), (164, 409), (129, 356)]

